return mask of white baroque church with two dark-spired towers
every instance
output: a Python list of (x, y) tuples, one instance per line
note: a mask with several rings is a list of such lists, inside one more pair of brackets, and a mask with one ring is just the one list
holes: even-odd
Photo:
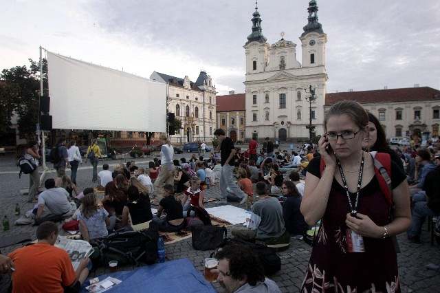
[(315, 0), (307, 10), (308, 22), (299, 38), (301, 62), (296, 43), (285, 40), (283, 33), (276, 43), (267, 43), (258, 6), (252, 14), (252, 33), (243, 46), (247, 139), (308, 140), (310, 121), (316, 133), (323, 132), (327, 34), (318, 22)]

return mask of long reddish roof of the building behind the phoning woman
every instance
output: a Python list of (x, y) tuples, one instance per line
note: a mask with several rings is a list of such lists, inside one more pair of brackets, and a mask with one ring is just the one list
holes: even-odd
[(407, 102), (417, 100), (440, 100), (440, 91), (432, 87), (408, 87), (404, 89), (377, 89), (374, 91), (347, 91), (325, 95), (325, 105), (340, 100), (355, 100), (361, 104), (377, 102)]

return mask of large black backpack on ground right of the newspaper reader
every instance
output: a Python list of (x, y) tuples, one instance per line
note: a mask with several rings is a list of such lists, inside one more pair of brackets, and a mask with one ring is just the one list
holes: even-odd
[(94, 239), (93, 246), (98, 247), (103, 264), (118, 261), (121, 265), (151, 265), (157, 260), (158, 238), (157, 231), (151, 230), (113, 232), (105, 238)]

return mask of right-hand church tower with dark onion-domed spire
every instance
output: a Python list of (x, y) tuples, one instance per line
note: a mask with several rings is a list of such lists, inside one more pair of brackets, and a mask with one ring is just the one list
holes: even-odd
[(322, 30), (322, 25), (318, 22), (318, 4), (316, 0), (309, 1), (308, 23), (303, 28), (304, 32), (300, 36), (303, 47), (303, 67), (325, 66), (325, 44), (327, 34)]

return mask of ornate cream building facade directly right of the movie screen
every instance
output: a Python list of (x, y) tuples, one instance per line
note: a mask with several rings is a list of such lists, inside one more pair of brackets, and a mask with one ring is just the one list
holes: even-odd
[(201, 71), (195, 83), (188, 76), (177, 78), (159, 72), (153, 72), (150, 79), (168, 85), (168, 112), (175, 113), (175, 119), (181, 121), (182, 129), (170, 135), (171, 142), (210, 142), (216, 127), (216, 91), (212, 78)]

